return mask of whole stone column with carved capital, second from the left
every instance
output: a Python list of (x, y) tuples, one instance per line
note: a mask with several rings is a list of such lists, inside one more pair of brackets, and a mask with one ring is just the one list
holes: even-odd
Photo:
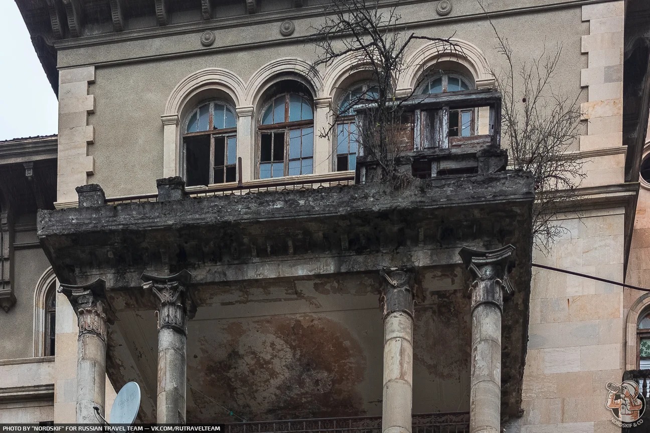
[(170, 277), (142, 274), (142, 286), (151, 289), (158, 304), (156, 421), (159, 424), (185, 424), (187, 320), (196, 312), (187, 288), (191, 278), (185, 270)]

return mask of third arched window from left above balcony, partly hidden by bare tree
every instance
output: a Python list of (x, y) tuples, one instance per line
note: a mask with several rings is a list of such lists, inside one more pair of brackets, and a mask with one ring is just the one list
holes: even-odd
[(357, 127), (354, 105), (373, 101), (379, 95), (379, 88), (372, 83), (357, 84), (346, 91), (339, 101), (336, 123), (336, 171), (354, 170), (357, 157)]

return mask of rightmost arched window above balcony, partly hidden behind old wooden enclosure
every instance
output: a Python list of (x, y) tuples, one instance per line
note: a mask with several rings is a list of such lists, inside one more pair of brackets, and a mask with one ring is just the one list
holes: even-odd
[[(421, 86), (419, 93), (461, 92), (474, 88), (471, 80), (458, 73), (442, 72)], [(449, 136), (469, 137), (476, 135), (476, 110), (451, 110), (449, 112)]]

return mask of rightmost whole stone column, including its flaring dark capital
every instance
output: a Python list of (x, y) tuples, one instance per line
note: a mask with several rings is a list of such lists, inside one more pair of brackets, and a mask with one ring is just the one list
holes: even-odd
[(476, 251), (463, 247), (460, 256), (475, 277), (469, 291), (472, 308), (472, 357), (469, 432), (500, 433), (501, 315), (503, 291), (512, 293), (508, 273), (515, 247)]

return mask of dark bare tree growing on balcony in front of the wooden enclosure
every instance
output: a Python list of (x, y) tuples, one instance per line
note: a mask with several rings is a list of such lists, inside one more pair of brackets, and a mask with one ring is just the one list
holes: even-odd
[(396, 169), (395, 158), (406, 150), (404, 145), (408, 116), (402, 104), (411, 95), (396, 95), (399, 77), (405, 69), (409, 44), (414, 40), (441, 42), (453, 47), (450, 38), (434, 38), (408, 32), (400, 25), (398, 5), (380, 7), (378, 0), (331, 0), (324, 6), (325, 20), (313, 27), (312, 42), (318, 49), (313, 69), (331, 64), (343, 56), (351, 56), (355, 64), (369, 71), (370, 90), (351, 95), (346, 104), (334, 110), (333, 121), (321, 136), (329, 136), (337, 120), (349, 113), (350, 106), (367, 104), (363, 116), (357, 117), (357, 142), (363, 153), (378, 167), (382, 180), (394, 188), (408, 183), (410, 176)]

